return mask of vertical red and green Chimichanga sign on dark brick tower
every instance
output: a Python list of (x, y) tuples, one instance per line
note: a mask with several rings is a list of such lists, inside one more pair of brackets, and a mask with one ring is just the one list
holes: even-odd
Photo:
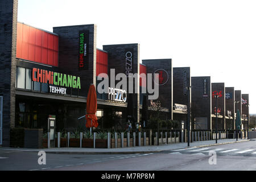
[(79, 31), (79, 69), (88, 69), (89, 30)]

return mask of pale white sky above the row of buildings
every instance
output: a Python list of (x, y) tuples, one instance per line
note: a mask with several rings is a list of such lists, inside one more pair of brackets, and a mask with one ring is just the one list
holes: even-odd
[(139, 43), (139, 59), (172, 59), (191, 76), (249, 94), (256, 113), (256, 1), (19, 0), (18, 21), (43, 30), (97, 25), (97, 48)]

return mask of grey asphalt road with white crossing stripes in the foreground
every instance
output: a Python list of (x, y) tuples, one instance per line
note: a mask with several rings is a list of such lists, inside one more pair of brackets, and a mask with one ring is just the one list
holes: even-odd
[[(216, 164), (209, 152), (216, 152)], [(255, 154), (254, 154), (255, 153)], [(150, 154), (46, 154), (39, 165), (37, 152), (0, 151), (0, 170), (175, 171), (256, 170), (256, 141)]]

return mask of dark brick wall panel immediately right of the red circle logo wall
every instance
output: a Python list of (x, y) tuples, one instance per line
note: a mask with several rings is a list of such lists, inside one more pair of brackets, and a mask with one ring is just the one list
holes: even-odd
[(190, 67), (174, 68), (174, 104), (188, 105), (188, 90), (186, 86), (191, 84)]

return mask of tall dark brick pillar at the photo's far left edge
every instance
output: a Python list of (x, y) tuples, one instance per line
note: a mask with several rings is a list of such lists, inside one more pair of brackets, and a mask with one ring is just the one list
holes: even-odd
[(0, 1), (0, 94), (3, 96), (3, 146), (15, 125), (16, 29), (18, 0)]

